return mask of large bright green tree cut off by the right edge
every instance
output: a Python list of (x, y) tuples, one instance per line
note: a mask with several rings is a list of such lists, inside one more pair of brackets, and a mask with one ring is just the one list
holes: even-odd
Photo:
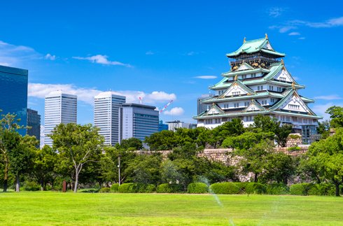
[(339, 185), (343, 183), (343, 129), (337, 129), (336, 134), (326, 140), (312, 143), (306, 157), (308, 166), (315, 169), (322, 180), (333, 183), (339, 196)]

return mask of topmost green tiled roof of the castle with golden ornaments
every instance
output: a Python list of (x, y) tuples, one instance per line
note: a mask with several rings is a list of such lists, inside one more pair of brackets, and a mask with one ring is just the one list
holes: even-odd
[(228, 53), (226, 56), (227, 57), (235, 57), (243, 51), (246, 53), (252, 53), (252, 52), (258, 52), (260, 50), (263, 52), (268, 52), (268, 53), (273, 54), (273, 55), (278, 55), (280, 57), (286, 56), (285, 54), (283, 54), (281, 52), (262, 49), (263, 45), (265, 45), (265, 43), (267, 43), (267, 42), (268, 42), (268, 38), (260, 38), (260, 39), (255, 39), (252, 41), (246, 41), (243, 43), (243, 45), (241, 45), (241, 47), (238, 50), (236, 50), (235, 52)]

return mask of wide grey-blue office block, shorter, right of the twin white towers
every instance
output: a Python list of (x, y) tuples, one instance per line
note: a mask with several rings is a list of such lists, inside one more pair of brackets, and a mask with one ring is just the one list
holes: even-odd
[(119, 139), (135, 137), (144, 141), (146, 136), (158, 132), (159, 113), (155, 106), (123, 104), (119, 112)]

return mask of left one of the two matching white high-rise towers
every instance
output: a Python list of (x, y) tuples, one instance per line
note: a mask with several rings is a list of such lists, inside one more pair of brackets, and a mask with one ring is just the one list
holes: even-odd
[(78, 97), (64, 91), (53, 91), (45, 96), (44, 113), (44, 144), (52, 147), (52, 140), (48, 137), (52, 130), (63, 122), (76, 123)]

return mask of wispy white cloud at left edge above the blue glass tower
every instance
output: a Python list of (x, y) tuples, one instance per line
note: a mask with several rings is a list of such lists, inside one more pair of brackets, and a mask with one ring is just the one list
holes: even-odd
[(23, 45), (12, 45), (0, 41), (0, 64), (4, 66), (16, 66), (26, 59), (41, 59), (42, 55), (33, 48)]

